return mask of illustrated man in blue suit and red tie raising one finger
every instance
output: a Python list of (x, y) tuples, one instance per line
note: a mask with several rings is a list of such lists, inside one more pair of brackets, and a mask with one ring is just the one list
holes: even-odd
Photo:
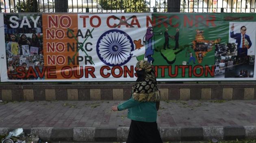
[(252, 46), (250, 37), (246, 35), (246, 27), (241, 27), (241, 33), (234, 34), (234, 23), (231, 26), (230, 37), (236, 39), (237, 43), (237, 56), (244, 57), (247, 56), (247, 49)]

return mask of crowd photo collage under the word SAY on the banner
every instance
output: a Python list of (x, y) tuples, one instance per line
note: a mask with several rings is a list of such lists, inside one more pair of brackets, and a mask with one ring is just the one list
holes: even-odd
[[(4, 39), (6, 46), (7, 75), (9, 80), (37, 80), (42, 71), (43, 32), (41, 15), (4, 15)], [(28, 68), (33, 68), (38, 78), (28, 77)], [(18, 72), (19, 73), (18, 73)]]

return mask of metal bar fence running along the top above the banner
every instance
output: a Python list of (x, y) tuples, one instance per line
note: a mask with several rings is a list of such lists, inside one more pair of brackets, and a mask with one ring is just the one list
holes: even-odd
[[(63, 1), (66, 4), (63, 4)], [(0, 0), (1, 13), (170, 12), (172, 0)], [(180, 0), (185, 13), (255, 13), (256, 0)], [(58, 3), (59, 2), (59, 3)], [(64, 2), (64, 3), (65, 3)], [(176, 6), (177, 8), (177, 6)]]

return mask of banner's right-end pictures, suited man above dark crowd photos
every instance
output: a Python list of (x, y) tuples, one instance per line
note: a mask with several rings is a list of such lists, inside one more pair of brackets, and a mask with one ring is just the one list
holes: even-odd
[[(225, 78), (253, 78), (255, 61), (256, 22), (230, 22), (229, 46), (223, 52)], [(229, 54), (233, 51), (234, 54)]]

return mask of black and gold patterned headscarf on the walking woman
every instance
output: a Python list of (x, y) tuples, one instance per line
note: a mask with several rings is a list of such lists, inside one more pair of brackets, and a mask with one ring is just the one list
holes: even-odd
[(148, 61), (141, 60), (137, 62), (136, 68), (142, 70), (136, 71), (138, 79), (132, 87), (132, 98), (140, 102), (160, 101), (155, 71), (152, 69), (152, 65)]

